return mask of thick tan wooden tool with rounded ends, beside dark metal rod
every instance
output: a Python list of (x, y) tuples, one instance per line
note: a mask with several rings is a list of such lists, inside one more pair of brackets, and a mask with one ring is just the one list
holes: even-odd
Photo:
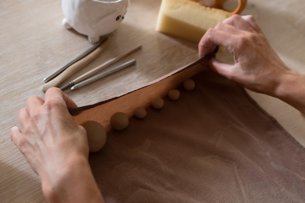
[(51, 87), (58, 87), (60, 83), (62, 83), (65, 79), (70, 77), (76, 71), (80, 70), (81, 68), (85, 67), (91, 61), (93, 61), (98, 55), (100, 55), (108, 46), (109, 39), (108, 37), (102, 40), (103, 42), (99, 47), (97, 47), (92, 53), (88, 54), (86, 57), (78, 60), (76, 63), (69, 66), (66, 70), (64, 70), (61, 74), (59, 74), (56, 78), (49, 81), (45, 85), (42, 86), (42, 91), (46, 92)]

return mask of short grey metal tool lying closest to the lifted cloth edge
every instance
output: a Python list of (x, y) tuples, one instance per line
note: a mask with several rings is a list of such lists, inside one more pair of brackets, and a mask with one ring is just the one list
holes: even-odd
[(135, 64), (136, 60), (133, 59), (131, 61), (128, 61), (126, 63), (123, 63), (121, 65), (118, 65), (110, 70), (104, 71), (100, 74), (97, 74), (95, 76), (89, 77), (88, 79), (85, 79), (79, 83), (77, 83), (76, 85), (74, 85), (73, 87), (71, 87), (71, 90), (76, 90), (78, 88), (84, 87), (85, 85), (88, 85), (92, 82), (95, 82), (96, 80), (102, 79), (110, 74), (114, 74), (115, 72), (118, 72), (120, 70), (123, 70), (124, 68), (127, 68), (129, 66), (132, 66), (133, 64)]

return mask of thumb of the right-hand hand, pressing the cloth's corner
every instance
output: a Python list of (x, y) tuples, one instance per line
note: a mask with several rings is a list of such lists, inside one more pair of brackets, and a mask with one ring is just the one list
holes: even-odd
[(212, 58), (208, 62), (208, 68), (212, 70), (213, 72), (216, 72), (218, 74), (221, 74), (227, 78), (230, 78), (233, 70), (233, 65), (229, 65), (227, 63), (223, 63), (222, 61)]

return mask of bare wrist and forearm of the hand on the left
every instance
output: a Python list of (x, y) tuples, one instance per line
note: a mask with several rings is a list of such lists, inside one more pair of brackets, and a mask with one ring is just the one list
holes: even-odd
[(104, 203), (87, 160), (68, 167), (53, 180), (41, 180), (50, 203)]

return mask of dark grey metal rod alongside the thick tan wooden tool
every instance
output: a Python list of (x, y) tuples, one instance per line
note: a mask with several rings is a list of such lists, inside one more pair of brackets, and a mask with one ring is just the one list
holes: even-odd
[(80, 59), (86, 57), (87, 55), (89, 55), (90, 53), (92, 53), (97, 47), (99, 47), (101, 45), (101, 43), (104, 42), (104, 40), (100, 40), (97, 44), (89, 47), (87, 50), (85, 50), (83, 53), (81, 53), (80, 55), (77, 55), (75, 58), (73, 58), (71, 61), (69, 61), (68, 63), (66, 63), (65, 65), (63, 65), (61, 68), (59, 68), (56, 72), (54, 72), (53, 74), (43, 78), (43, 81), (45, 83), (49, 82), (50, 80), (54, 79), (55, 77), (57, 77), (57, 75), (61, 74), (64, 70), (66, 70), (69, 66), (71, 66), (72, 64), (76, 63), (77, 61), (79, 61)]

